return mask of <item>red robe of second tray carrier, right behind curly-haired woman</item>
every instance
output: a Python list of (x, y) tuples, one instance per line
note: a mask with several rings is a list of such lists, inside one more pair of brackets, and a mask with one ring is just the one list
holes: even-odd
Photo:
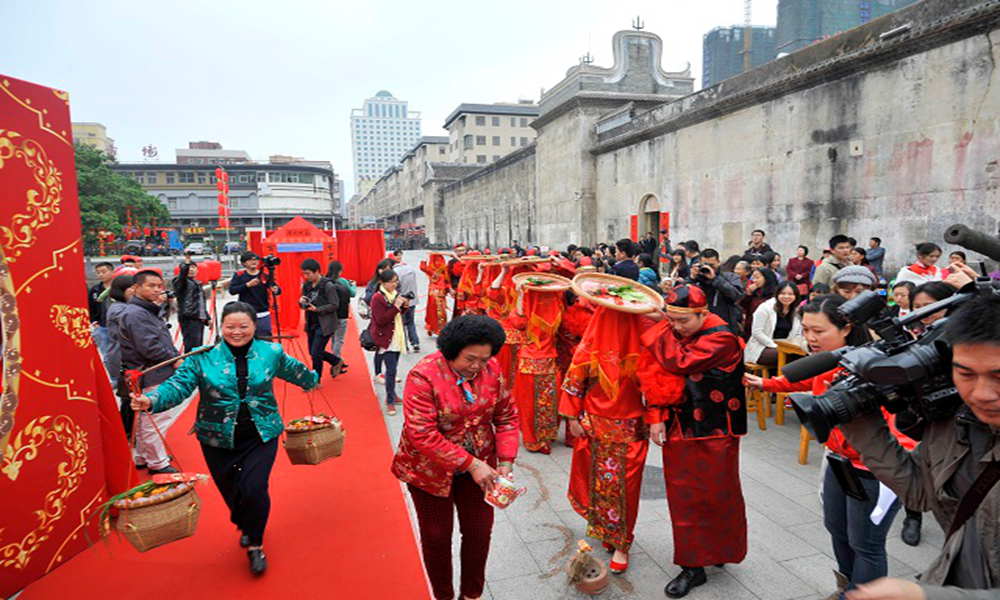
[(564, 308), (562, 291), (523, 291), (525, 343), (518, 350), (514, 399), (521, 415), (524, 447), (549, 452), (559, 433), (559, 386), (556, 332)]

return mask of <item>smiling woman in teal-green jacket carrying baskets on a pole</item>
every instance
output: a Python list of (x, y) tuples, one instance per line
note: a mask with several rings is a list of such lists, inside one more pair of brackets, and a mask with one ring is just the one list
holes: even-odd
[(134, 396), (132, 408), (161, 412), (200, 392), (195, 432), (205, 463), (240, 530), (250, 571), (267, 569), (264, 527), (271, 510), (268, 479), (284, 429), (274, 399), (274, 378), (305, 390), (316, 373), (285, 354), (279, 344), (255, 340), (256, 312), (244, 302), (222, 310), (223, 343), (191, 356), (148, 395)]

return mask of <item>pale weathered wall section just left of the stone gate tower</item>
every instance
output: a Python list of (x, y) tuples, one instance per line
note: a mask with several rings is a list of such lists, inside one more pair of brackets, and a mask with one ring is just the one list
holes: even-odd
[(493, 165), (437, 192), (441, 215), (432, 241), (497, 248), (527, 243), (540, 217), (535, 202), (535, 146), (512, 152)]

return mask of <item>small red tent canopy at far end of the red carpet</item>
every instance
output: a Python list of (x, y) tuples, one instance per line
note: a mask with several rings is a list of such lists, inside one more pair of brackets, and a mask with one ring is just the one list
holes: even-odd
[[(282, 330), (296, 329), (303, 325), (302, 309), (299, 308), (302, 291), (299, 265), (307, 258), (314, 258), (326, 273), (326, 266), (337, 258), (337, 240), (302, 217), (295, 217), (264, 239), (261, 254), (274, 254), (281, 259), (275, 270), (275, 281), (282, 291), (278, 296), (278, 323)], [(272, 323), (272, 328), (274, 326)]]

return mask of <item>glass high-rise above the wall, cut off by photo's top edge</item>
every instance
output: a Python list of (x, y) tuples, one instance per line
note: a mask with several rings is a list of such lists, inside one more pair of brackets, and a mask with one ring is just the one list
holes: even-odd
[(778, 0), (779, 54), (867, 23), (917, 0)]

